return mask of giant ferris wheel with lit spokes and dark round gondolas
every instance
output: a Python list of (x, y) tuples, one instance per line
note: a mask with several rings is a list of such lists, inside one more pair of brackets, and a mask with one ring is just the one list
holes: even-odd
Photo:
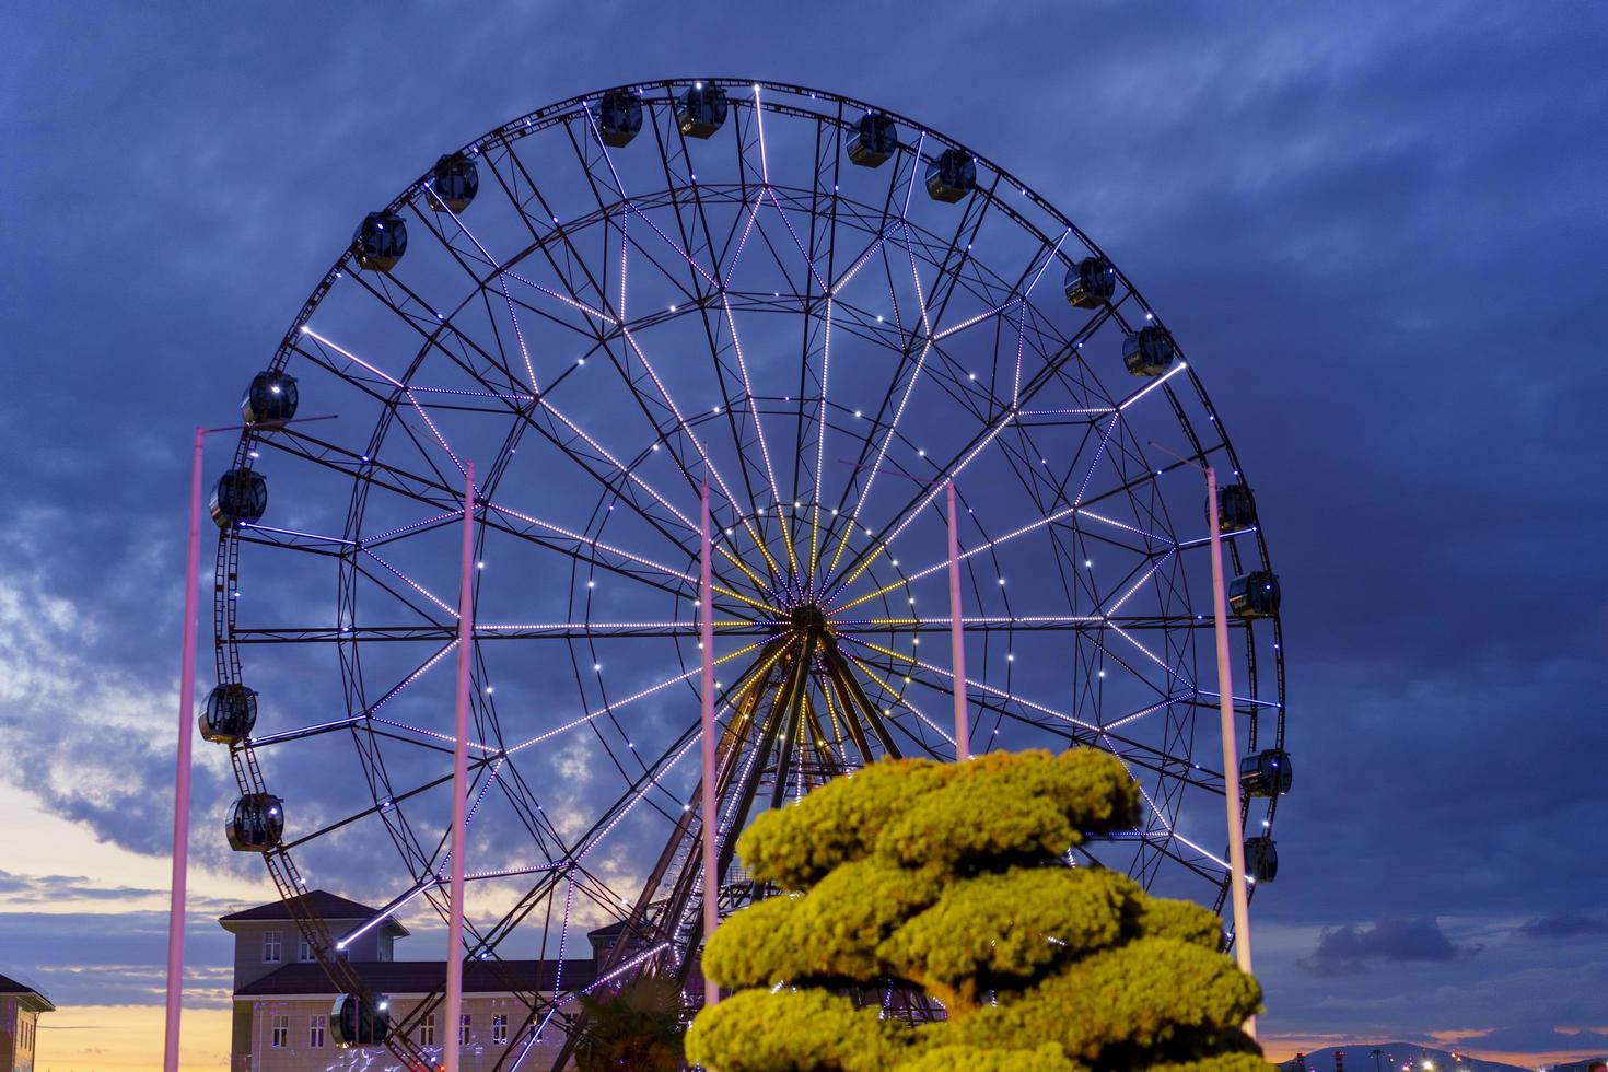
[[(297, 407), (336, 416), (283, 424)], [(954, 759), (957, 689), (973, 754), (1100, 747), (1132, 771), (1140, 824), (1074, 863), (1220, 910), (1233, 778), (1249, 873), (1277, 869), (1278, 585), (1224, 421), (1090, 238), (913, 119), (736, 79), (521, 116), (360, 220), (243, 410), (201, 730), (240, 783), (230, 842), (304, 906), (360, 1014), (351, 935), (296, 894), (447, 916), (470, 461), (463, 956), (611, 943), (601, 974), (529, 993), (498, 1067), (601, 979), (695, 988), (704, 485), (724, 911), (756, 894), (735, 841), (759, 810), (878, 759)], [(1204, 487), (1175, 455), (1224, 474), (1240, 770)], [(391, 1027), (399, 1054), (428, 1059), (428, 1008)]]

